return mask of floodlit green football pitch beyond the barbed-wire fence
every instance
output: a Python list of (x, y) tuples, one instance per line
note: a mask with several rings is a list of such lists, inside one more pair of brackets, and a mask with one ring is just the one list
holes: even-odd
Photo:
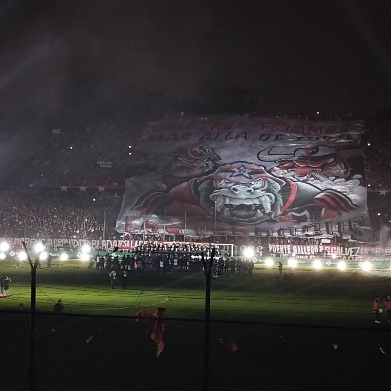
[[(30, 267), (3, 261), (0, 272), (9, 276), (10, 296), (0, 310), (29, 310)], [(290, 273), (289, 270), (284, 272)], [(120, 273), (118, 273), (120, 274)], [(372, 327), (372, 304), (391, 291), (389, 278), (358, 270), (295, 269), (291, 281), (277, 281), (276, 267), (256, 265), (253, 276), (221, 274), (212, 280), (211, 318), (303, 325)], [(108, 274), (77, 261), (52, 262), (37, 273), (37, 310), (51, 312), (61, 299), (68, 314), (135, 315), (139, 308), (166, 308), (167, 317), (202, 319), (204, 275), (133, 272), (127, 290), (118, 278), (110, 288)], [(386, 313), (382, 314), (386, 320)], [(384, 325), (385, 326), (385, 325)], [(381, 326), (382, 327), (382, 326)]]

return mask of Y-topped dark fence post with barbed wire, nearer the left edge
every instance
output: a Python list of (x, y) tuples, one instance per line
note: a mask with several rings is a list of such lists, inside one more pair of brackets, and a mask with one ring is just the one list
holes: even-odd
[(23, 240), (23, 248), (29, 259), (29, 264), (31, 267), (31, 300), (30, 300), (30, 391), (36, 391), (37, 382), (36, 382), (36, 371), (35, 371), (35, 339), (34, 339), (34, 330), (35, 330), (35, 300), (36, 300), (36, 277), (37, 277), (37, 267), (39, 262), (39, 255), (35, 258), (34, 264), (30, 258), (29, 252), (27, 251), (26, 244)]

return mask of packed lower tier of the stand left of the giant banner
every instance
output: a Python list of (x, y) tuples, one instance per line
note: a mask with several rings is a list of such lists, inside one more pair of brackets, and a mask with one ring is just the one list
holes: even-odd
[(108, 194), (49, 193), (2, 193), (0, 199), (1, 237), (45, 239), (102, 239), (104, 222), (106, 239), (112, 239), (122, 201)]

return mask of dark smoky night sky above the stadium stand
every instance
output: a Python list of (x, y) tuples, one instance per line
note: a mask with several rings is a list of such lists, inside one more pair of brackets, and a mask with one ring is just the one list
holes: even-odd
[(4, 1), (0, 115), (44, 127), (201, 109), (372, 115), (391, 102), (390, 10), (354, 0)]

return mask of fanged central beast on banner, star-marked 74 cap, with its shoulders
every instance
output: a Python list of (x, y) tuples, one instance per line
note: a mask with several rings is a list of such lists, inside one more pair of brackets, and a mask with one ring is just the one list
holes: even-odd
[(265, 221), (310, 221), (312, 217), (334, 219), (356, 210), (346, 195), (319, 190), (308, 183), (282, 179), (265, 167), (246, 161), (221, 165), (212, 174), (193, 178), (167, 194), (150, 194), (144, 205), (151, 212), (190, 211), (213, 215), (234, 226)]

